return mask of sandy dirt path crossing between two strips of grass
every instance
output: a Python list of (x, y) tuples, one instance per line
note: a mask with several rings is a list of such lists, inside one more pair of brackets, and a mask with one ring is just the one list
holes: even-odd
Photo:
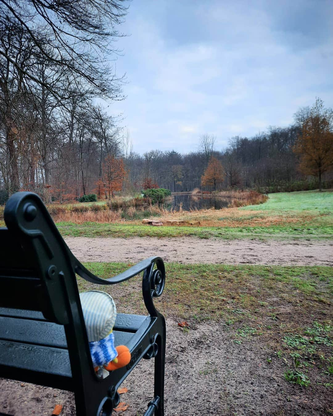
[(137, 262), (159, 255), (166, 262), (333, 266), (333, 243), (203, 240), (200, 238), (86, 238), (66, 243), (81, 261)]

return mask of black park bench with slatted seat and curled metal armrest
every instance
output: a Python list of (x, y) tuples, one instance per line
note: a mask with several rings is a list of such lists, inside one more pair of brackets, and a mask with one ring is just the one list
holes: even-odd
[[(90, 273), (71, 253), (40, 198), (14, 194), (0, 228), (0, 377), (75, 393), (78, 416), (111, 415), (118, 386), (142, 359), (154, 358), (154, 398), (145, 416), (164, 415), (165, 320), (153, 297), (164, 289), (159, 257), (110, 279)], [(115, 344), (127, 345), (131, 362), (99, 378), (92, 365), (76, 275), (99, 285), (143, 272), (148, 316), (117, 315)]]

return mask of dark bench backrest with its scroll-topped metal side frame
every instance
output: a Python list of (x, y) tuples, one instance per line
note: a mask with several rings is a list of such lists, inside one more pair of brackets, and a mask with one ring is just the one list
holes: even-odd
[[(0, 307), (41, 311), (64, 325), (73, 391), (94, 374), (75, 262), (39, 196), (18, 192), (7, 201), (0, 229)], [(78, 387), (76, 387), (76, 385)]]

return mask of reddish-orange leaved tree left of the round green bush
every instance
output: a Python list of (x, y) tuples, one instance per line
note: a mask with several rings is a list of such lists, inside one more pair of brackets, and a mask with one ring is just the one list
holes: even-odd
[(109, 197), (109, 200), (114, 191), (122, 190), (122, 183), (125, 177), (124, 161), (117, 159), (112, 155), (105, 158), (103, 163), (103, 186)]

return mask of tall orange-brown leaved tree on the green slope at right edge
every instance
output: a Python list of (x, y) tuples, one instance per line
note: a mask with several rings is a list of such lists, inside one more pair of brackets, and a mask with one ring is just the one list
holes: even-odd
[(323, 173), (333, 168), (333, 110), (325, 109), (321, 99), (303, 120), (293, 151), (300, 156), (300, 171), (318, 176), (321, 191)]

